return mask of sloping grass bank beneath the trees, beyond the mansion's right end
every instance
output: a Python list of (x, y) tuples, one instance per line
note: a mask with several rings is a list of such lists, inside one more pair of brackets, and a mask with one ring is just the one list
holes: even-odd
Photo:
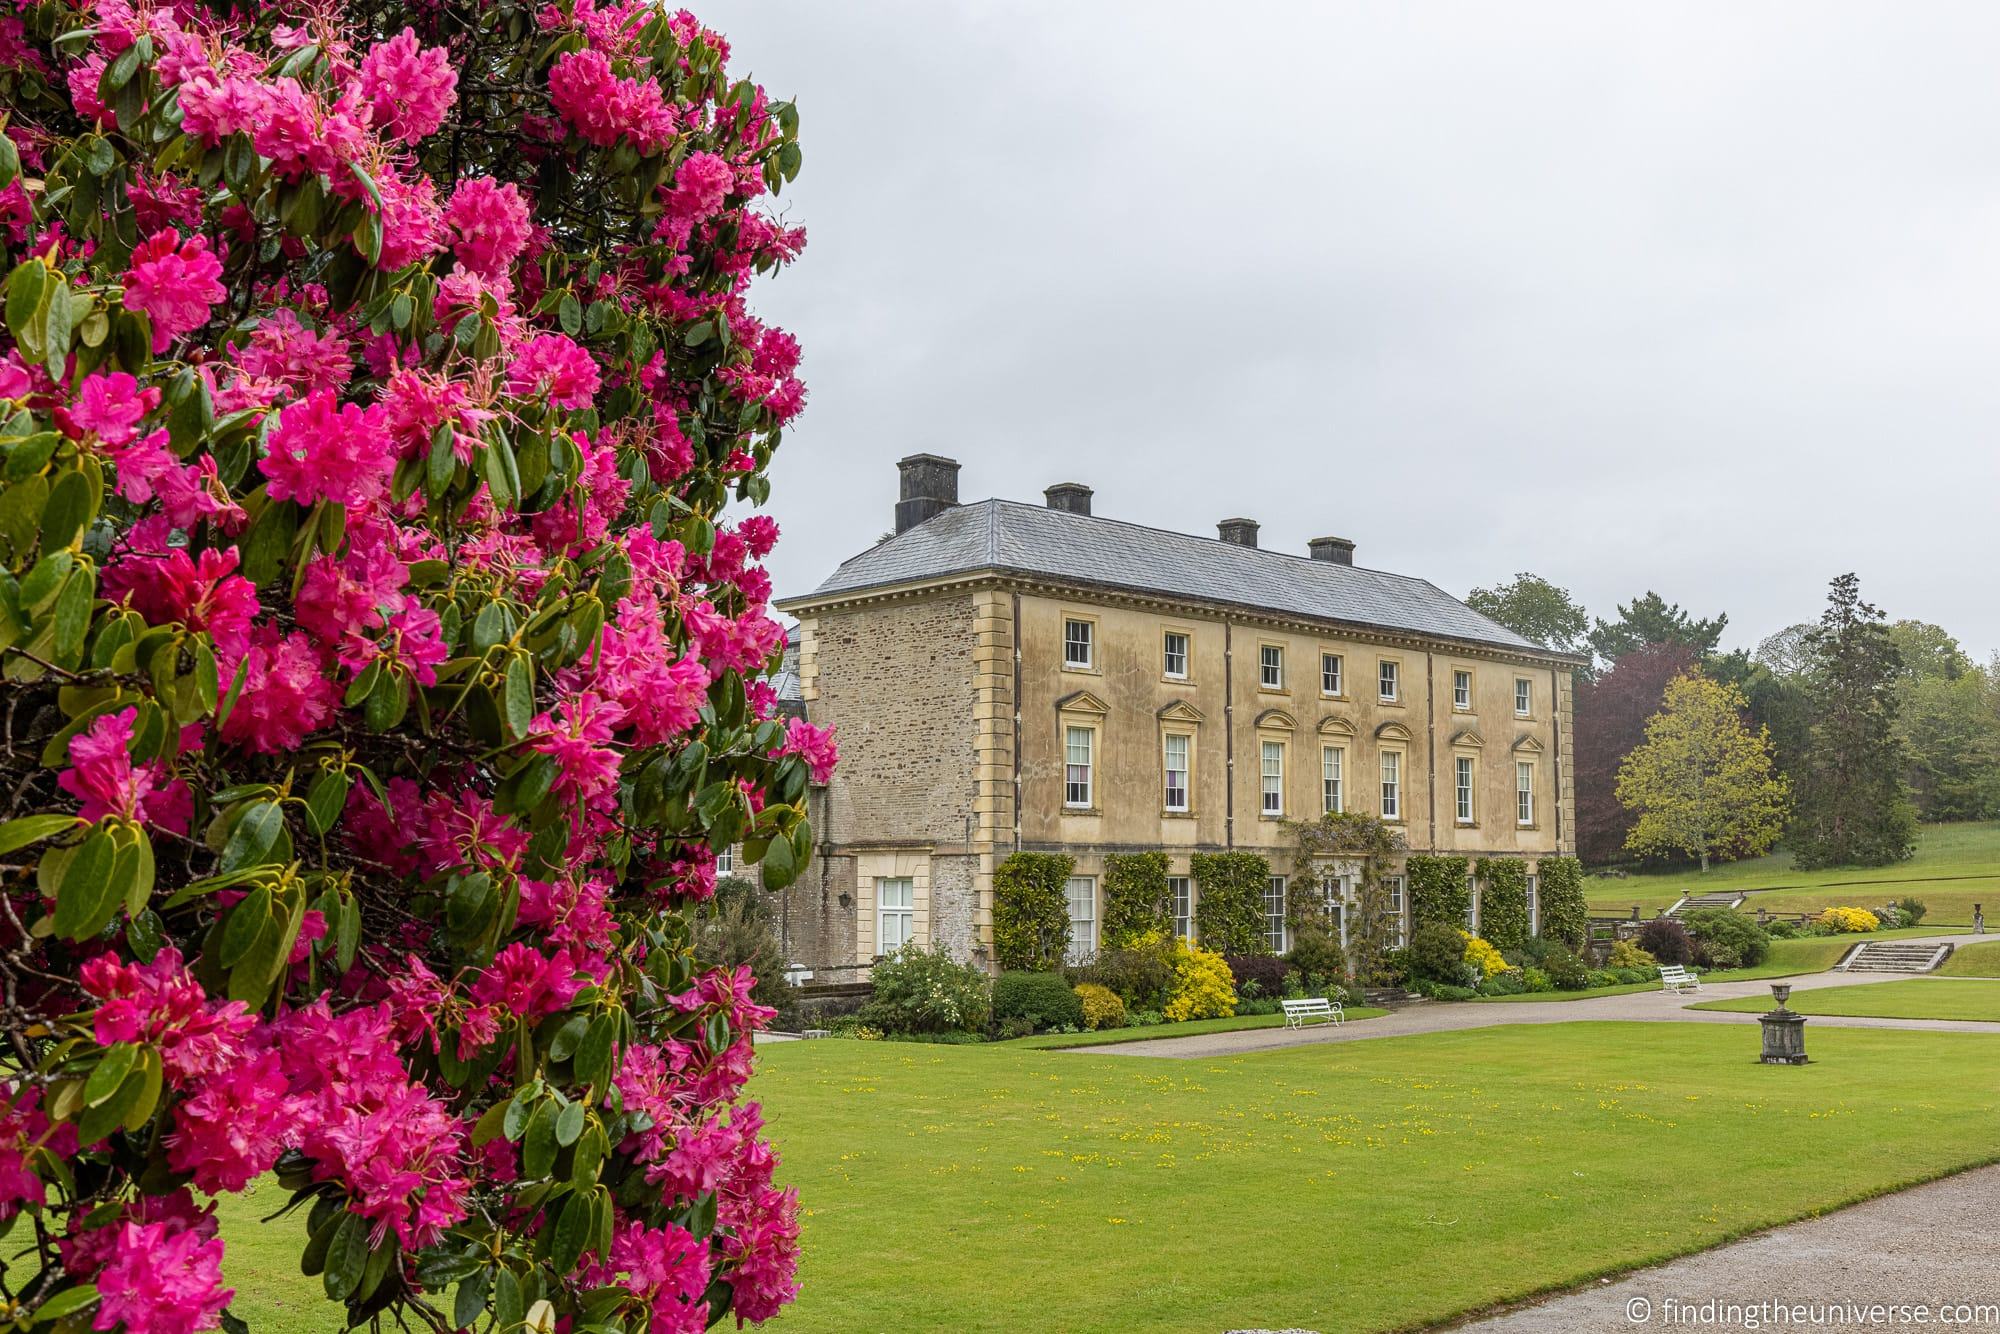
[(1872, 908), (1910, 896), (1930, 908), (1928, 926), (1970, 926), (1974, 902), (2000, 906), (2000, 820), (1926, 824), (1918, 830), (1916, 856), (1896, 866), (1794, 870), (1790, 852), (1774, 852), (1724, 862), (1706, 876), (1686, 870), (1584, 880), (1592, 910), (1618, 914), (1638, 904), (1652, 916), (1682, 894), (1708, 890), (1762, 890), (1746, 904), (1752, 912), (1758, 906), (1772, 912), (1818, 912), (1844, 904)]

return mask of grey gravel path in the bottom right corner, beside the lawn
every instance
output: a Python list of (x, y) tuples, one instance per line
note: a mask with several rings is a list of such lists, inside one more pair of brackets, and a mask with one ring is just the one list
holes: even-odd
[[(2000, 1166), (1976, 1168), (1458, 1328), (1480, 1334), (1786, 1334), (1920, 1324), (1992, 1330), (2000, 1328), (1996, 1236)], [(1758, 1310), (1756, 1302), (1804, 1310)], [(1730, 1304), (1744, 1310), (1732, 1312)], [(1828, 1304), (1836, 1310), (1826, 1310)], [(1858, 1310), (1876, 1304), (1926, 1308), (1928, 1318), (1914, 1312), (1900, 1320), (1896, 1312), (1870, 1318)], [(1982, 1308), (1950, 1310), (1960, 1304)]]

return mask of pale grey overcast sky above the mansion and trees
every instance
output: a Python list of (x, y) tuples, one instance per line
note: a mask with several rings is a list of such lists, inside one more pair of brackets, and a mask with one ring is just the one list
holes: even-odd
[(1726, 646), (2000, 650), (2000, 6), (730, 0), (796, 96), (780, 594), (894, 460)]

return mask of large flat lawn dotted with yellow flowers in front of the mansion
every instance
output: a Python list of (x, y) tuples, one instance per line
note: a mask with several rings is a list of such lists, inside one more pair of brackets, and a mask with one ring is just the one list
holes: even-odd
[[(1200, 1062), (770, 1046), (752, 1094), (806, 1210), (774, 1334), (1410, 1328), (2000, 1152), (2000, 1034), (1828, 1030), (1812, 1054), (1760, 1066), (1708, 1024)], [(238, 1312), (330, 1330), (302, 1314), (300, 1222), (262, 1246), (252, 1218), (226, 1210)]]

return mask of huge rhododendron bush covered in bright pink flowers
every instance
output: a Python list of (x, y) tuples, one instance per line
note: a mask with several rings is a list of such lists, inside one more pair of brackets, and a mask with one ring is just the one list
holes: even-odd
[(314, 1328), (772, 1316), (688, 912), (834, 760), (796, 112), (640, 0), (14, 0), (0, 92), (0, 1322), (244, 1328), (252, 1182)]

